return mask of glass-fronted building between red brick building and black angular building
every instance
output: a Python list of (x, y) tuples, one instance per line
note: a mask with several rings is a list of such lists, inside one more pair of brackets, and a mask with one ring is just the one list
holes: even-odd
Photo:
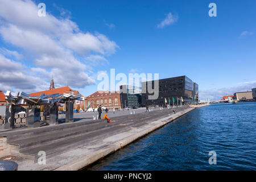
[(141, 106), (141, 87), (131, 85), (120, 86), (121, 106), (140, 107)]

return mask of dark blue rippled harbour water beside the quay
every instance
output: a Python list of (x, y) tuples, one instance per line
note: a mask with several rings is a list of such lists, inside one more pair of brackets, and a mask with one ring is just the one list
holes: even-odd
[[(216, 165), (209, 151), (216, 151)], [(195, 109), (89, 169), (255, 170), (256, 102)]]

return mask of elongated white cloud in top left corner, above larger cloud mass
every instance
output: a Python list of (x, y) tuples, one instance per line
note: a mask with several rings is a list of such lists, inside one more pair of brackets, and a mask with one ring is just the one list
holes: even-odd
[(79, 31), (75, 22), (69, 19), (57, 19), (48, 13), (45, 17), (39, 17), (38, 10), (37, 5), (31, 0), (0, 0), (0, 17), (7, 23), (47, 34), (63, 35), (74, 30)]

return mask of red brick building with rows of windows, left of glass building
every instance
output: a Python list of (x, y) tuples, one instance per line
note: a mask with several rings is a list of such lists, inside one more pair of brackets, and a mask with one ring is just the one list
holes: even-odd
[(97, 91), (85, 98), (85, 107), (96, 108), (102, 105), (108, 109), (121, 108), (119, 92)]

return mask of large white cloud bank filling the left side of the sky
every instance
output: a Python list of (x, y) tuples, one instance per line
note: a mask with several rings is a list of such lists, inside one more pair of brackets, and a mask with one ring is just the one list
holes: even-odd
[[(0, 51), (6, 56), (14, 56), (16, 60), (22, 56), (31, 60), (34, 65), (29, 65), (32, 68), (25, 68), (20, 64), (19, 73), (27, 75), (30, 80), (39, 79), (36, 82), (38, 84), (49, 82), (52, 74), (55, 85), (59, 86), (84, 88), (95, 84), (96, 81), (88, 75), (93, 75), (92, 67), (86, 61), (106, 61), (105, 56), (115, 53), (118, 45), (100, 33), (82, 32), (69, 18), (58, 19), (49, 13), (45, 17), (39, 17), (38, 10), (31, 0), (0, 0), (0, 35), (7, 44), (21, 49), (23, 54), (6, 48), (1, 48)], [(63, 9), (60, 11), (61, 15), (71, 14)], [(19, 64), (17, 61), (11, 63)], [(2, 73), (4, 69), (0, 67), (0, 75)], [(10, 79), (5, 79), (0, 80), (0, 87), (13, 85), (8, 82)], [(13, 86), (23, 88), (22, 84)], [(34, 91), (41, 89), (35, 85), (32, 88)]]

